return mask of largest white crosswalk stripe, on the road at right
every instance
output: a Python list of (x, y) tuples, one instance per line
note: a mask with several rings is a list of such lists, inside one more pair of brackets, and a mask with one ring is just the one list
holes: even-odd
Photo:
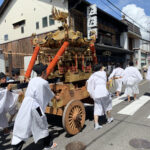
[(149, 100), (150, 100), (149, 96), (143, 95), (138, 100), (135, 100), (133, 103), (120, 110), (118, 114), (132, 116), (138, 109), (140, 109)]

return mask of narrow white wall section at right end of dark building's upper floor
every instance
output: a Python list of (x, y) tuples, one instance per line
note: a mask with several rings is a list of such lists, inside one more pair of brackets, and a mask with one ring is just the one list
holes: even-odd
[(127, 32), (123, 32), (120, 36), (120, 45), (124, 49), (128, 49), (128, 35)]

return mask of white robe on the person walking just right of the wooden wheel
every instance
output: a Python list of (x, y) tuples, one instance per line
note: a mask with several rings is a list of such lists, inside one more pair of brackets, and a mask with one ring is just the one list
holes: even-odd
[(94, 99), (94, 115), (102, 116), (112, 109), (112, 100), (106, 88), (106, 72), (97, 71), (87, 80), (87, 90)]

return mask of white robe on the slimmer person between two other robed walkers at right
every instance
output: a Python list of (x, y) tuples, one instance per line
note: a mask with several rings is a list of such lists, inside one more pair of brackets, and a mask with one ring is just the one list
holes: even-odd
[[(113, 72), (110, 74), (109, 76), (109, 80), (113, 77), (123, 77), (123, 73), (124, 73), (124, 69), (118, 67), (116, 69), (113, 70)], [(122, 89), (122, 78), (120, 79), (115, 79), (115, 85), (116, 85), (116, 91), (119, 91), (121, 92), (121, 89)]]

